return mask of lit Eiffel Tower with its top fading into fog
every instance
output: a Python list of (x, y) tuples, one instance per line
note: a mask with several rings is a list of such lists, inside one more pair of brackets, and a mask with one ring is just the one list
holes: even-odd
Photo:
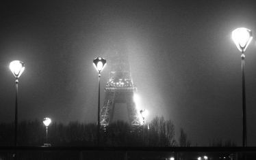
[(140, 118), (136, 110), (133, 95), (137, 91), (131, 79), (130, 66), (125, 48), (114, 48), (113, 57), (110, 59), (110, 79), (105, 86), (105, 99), (101, 108), (101, 127), (107, 127), (113, 122), (116, 103), (126, 103), (129, 124), (140, 125)]

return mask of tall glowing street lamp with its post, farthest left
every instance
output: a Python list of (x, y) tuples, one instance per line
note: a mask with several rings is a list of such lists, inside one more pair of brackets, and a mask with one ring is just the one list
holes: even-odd
[(18, 127), (18, 78), (23, 73), (25, 67), (22, 61), (12, 61), (9, 65), (12, 74), (15, 77), (15, 84), (16, 84), (16, 97), (15, 97), (15, 135), (14, 135), (14, 145), (17, 146), (17, 127)]

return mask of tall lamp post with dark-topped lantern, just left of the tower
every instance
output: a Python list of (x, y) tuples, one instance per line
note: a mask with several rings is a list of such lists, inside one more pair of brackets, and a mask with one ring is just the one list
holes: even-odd
[(97, 69), (99, 72), (99, 95), (98, 95), (98, 123), (97, 123), (97, 145), (99, 146), (99, 130), (100, 130), (100, 118), (99, 118), (99, 110), (101, 107), (101, 71), (105, 67), (107, 61), (101, 57), (97, 57), (96, 59), (93, 60), (94, 67)]

